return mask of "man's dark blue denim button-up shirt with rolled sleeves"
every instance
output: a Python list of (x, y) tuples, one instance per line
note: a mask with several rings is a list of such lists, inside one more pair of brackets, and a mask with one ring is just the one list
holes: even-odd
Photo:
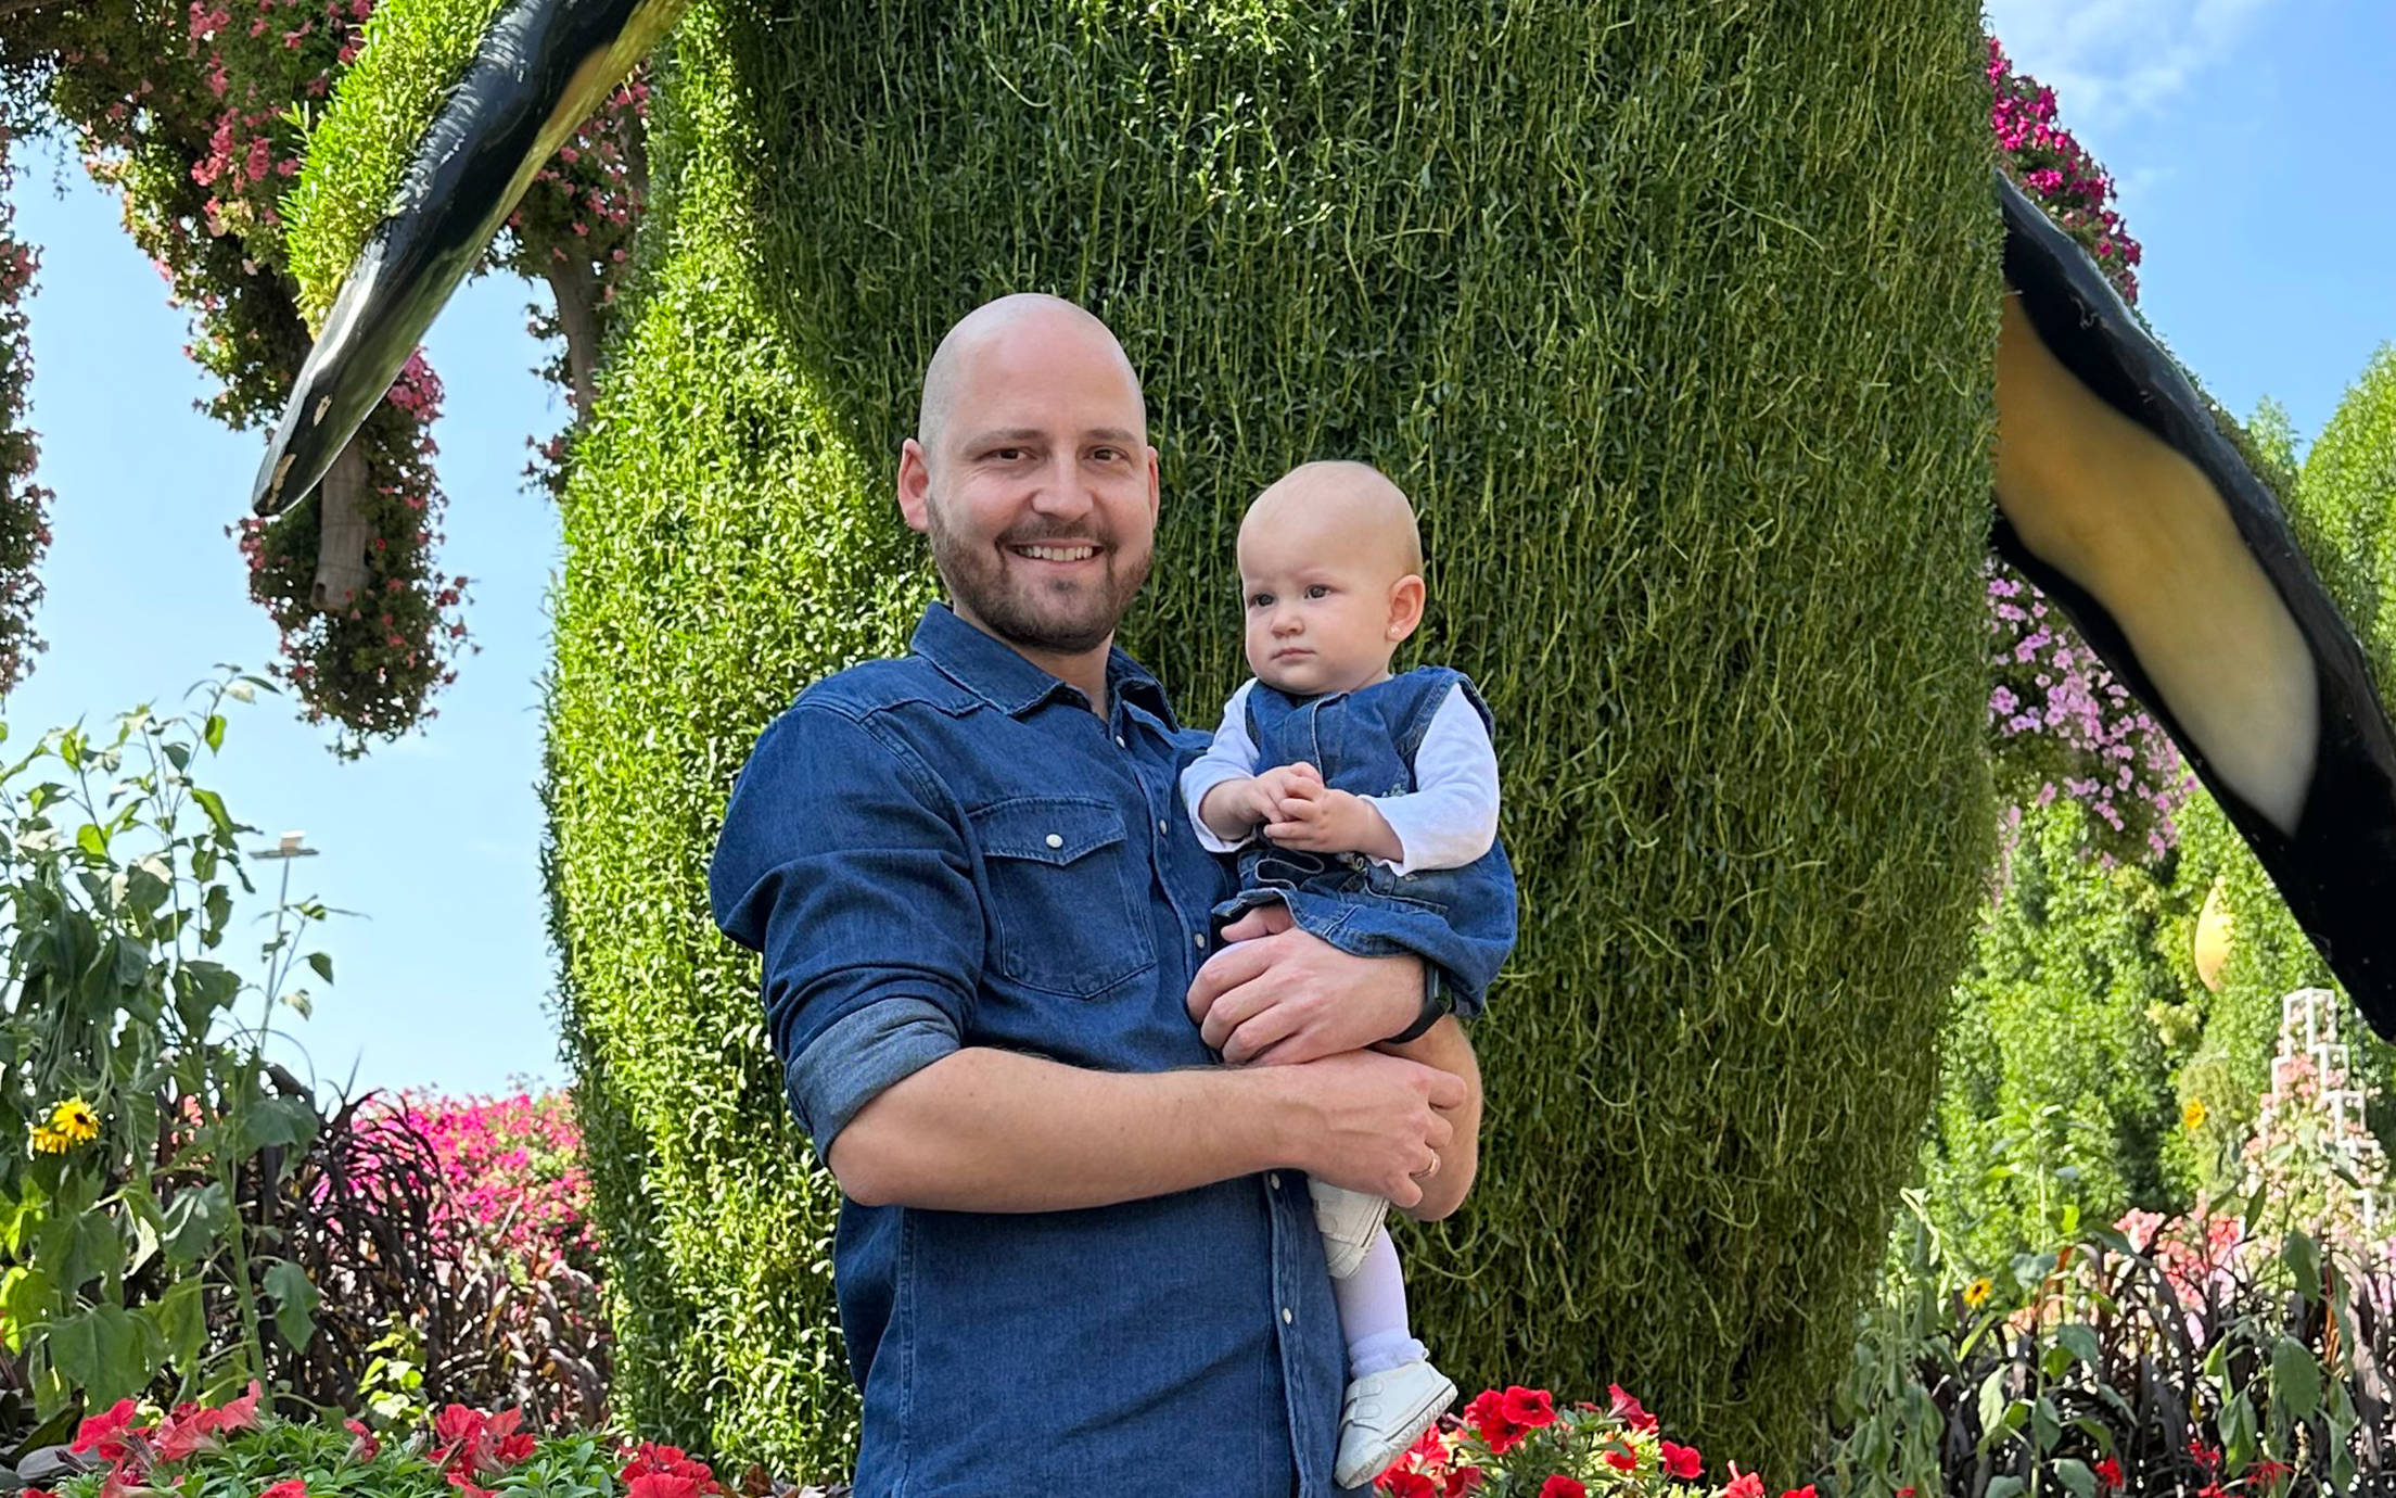
[[(709, 868), (764, 954), (791, 1110), (822, 1155), (958, 1045), (1210, 1067), (1184, 1007), (1224, 865), (1176, 774), (1205, 736), (1117, 650), (1107, 717), (934, 604), (913, 654), (807, 688), (757, 741)], [(1306, 1179), (1071, 1213), (841, 1201), (865, 1390), (858, 1498), (1323, 1498), (1344, 1354)]]

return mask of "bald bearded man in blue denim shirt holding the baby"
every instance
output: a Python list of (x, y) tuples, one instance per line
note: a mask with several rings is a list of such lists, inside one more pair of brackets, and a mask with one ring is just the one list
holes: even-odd
[(843, 1191), (858, 1496), (1327, 1496), (1344, 1366), (1301, 1172), (1454, 1210), (1471, 1047), (1414, 956), (1251, 916), (1208, 959), (1229, 882), (1176, 796), (1205, 736), (1112, 647), (1157, 453), (1095, 316), (951, 328), (898, 506), (951, 604), (767, 729), (709, 870)]

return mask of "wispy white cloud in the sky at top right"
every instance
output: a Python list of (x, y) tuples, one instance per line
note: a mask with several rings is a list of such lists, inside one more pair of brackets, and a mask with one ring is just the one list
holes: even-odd
[(1984, 0), (1989, 31), (2051, 84), (2065, 125), (2125, 125), (2226, 62), (2283, 0)]

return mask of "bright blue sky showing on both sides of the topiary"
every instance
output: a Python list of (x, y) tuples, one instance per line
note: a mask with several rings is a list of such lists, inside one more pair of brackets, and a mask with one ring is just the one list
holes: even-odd
[[(2142, 304), (2231, 410), (2276, 395), (2319, 431), (2396, 338), (2396, 165), (2384, 141), (2396, 7), (2379, 0), (2001, 0), (1991, 26), (2051, 81), (2111, 168), (2147, 247)], [(65, 185), (53, 197), (50, 182)], [(192, 410), (187, 326), (117, 209), (55, 153), (19, 153), (17, 232), (43, 247), (31, 302), (41, 482), (58, 491), (38, 616), (50, 640), (7, 702), (12, 738), (134, 702), (170, 707), (216, 662), (264, 666), (223, 530), (261, 436)], [(431, 331), (448, 386), (443, 568), (472, 582), (482, 654), (424, 733), (338, 762), (288, 702), (237, 709), (213, 784), (261, 829), (307, 829), (295, 889), (359, 911), (323, 932), (338, 983), (292, 1023), (326, 1083), (489, 1093), (563, 1081), (541, 923), (539, 688), (556, 513), (522, 489), (525, 439), (563, 410), (530, 374), (525, 285), (467, 288)], [(268, 865), (261, 865), (268, 868)], [(249, 928), (261, 940), (264, 928)], [(297, 1045), (304, 1045), (304, 1057)]]

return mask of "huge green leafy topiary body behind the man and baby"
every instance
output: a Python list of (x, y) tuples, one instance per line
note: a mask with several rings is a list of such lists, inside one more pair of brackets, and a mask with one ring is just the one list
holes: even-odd
[(1977, 5), (707, 5), (563, 499), (565, 1023), (625, 1419), (846, 1462), (834, 1194), (704, 901), (755, 733), (903, 650), (915, 381), (1093, 307), (1164, 451), (1124, 642), (1244, 676), (1232, 532), (1303, 458), (1416, 499), (1416, 659), (1498, 714), (1521, 947), (1471, 1206), (1402, 1230), (1466, 1390), (1622, 1383), (1795, 1472), (1984, 887), (1996, 213)]

